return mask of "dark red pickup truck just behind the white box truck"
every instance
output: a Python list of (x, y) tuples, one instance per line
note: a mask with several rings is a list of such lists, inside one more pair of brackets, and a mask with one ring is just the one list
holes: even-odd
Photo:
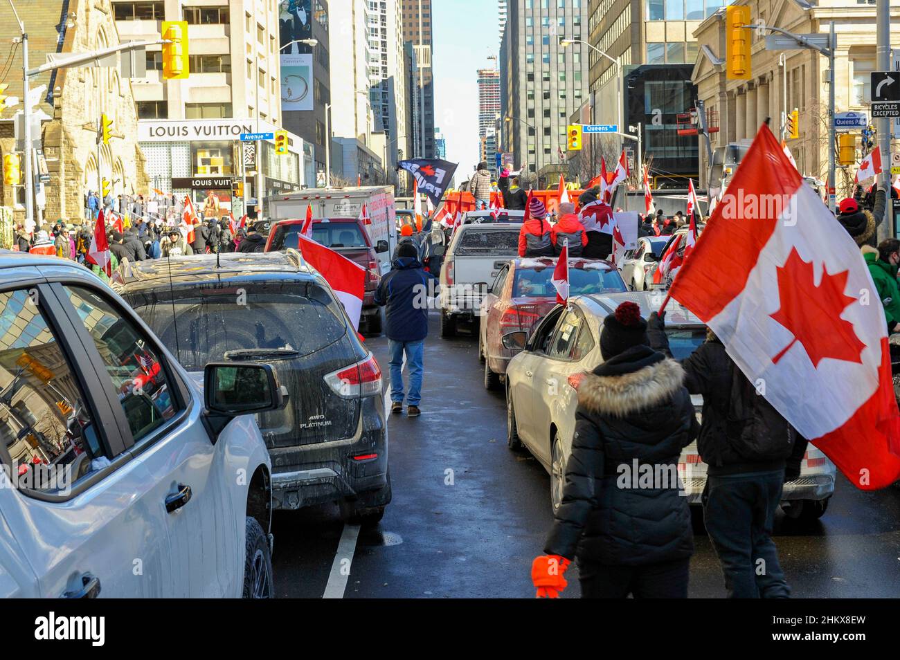
[[(269, 231), (266, 252), (279, 252), (288, 247), (296, 247), (297, 236), (301, 232), (303, 222), (304, 219), (278, 220)], [(329, 246), (338, 254), (365, 268), (367, 275), (360, 330), (365, 334), (381, 334), (384, 311), (375, 305), (375, 290), (382, 281), (382, 275), (376, 248), (385, 252), (388, 249), (387, 244), (372, 245), (372, 239), (363, 220), (358, 218), (313, 219), (312, 239), (321, 245)]]

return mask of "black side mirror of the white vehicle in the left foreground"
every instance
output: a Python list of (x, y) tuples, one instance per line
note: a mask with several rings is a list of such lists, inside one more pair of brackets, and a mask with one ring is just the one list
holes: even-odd
[(285, 395), (271, 364), (211, 362), (203, 369), (203, 403), (213, 415), (280, 410), (287, 403)]

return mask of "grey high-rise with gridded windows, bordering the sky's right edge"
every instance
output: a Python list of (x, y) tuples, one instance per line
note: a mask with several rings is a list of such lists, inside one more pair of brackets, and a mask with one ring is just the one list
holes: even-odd
[(561, 40), (587, 39), (588, 4), (509, 0), (501, 62), (506, 91), (501, 139), (514, 162), (534, 176), (560, 164), (568, 118), (588, 87), (587, 47)]

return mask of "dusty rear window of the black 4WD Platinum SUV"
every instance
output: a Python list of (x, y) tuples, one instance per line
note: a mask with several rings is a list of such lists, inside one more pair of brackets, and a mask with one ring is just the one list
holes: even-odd
[(347, 332), (329, 293), (305, 282), (216, 283), (126, 293), (125, 299), (187, 370), (202, 370), (207, 362), (225, 360), (226, 352), (248, 349), (266, 349), (266, 360), (278, 353), (308, 355)]

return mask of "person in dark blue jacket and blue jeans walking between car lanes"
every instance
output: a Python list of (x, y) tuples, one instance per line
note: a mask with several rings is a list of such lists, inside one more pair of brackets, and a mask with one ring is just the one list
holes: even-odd
[[(375, 291), (375, 304), (385, 308), (384, 334), (391, 351), (391, 412), (421, 414), (422, 371), (425, 338), (428, 336), (428, 299), (437, 292), (434, 275), (419, 263), (419, 250), (410, 241), (397, 247), (392, 270), (382, 278)], [(404, 395), (403, 357), (410, 366), (410, 391)]]

